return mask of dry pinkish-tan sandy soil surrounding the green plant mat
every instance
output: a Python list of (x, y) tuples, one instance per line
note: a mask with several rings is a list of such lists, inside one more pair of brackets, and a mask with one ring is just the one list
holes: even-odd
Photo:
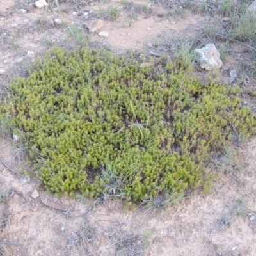
[[(92, 10), (93, 17), (99, 8), (127, 4), (71, 2), (60, 1), (60, 16), (58, 10), (52, 11), (56, 7), (52, 1), (49, 8), (38, 9), (29, 0), (0, 0), (0, 69), (4, 70), (0, 75), (1, 92), (11, 77), (26, 76), (26, 65), (33, 61), (28, 51), (41, 56), (54, 45), (74, 49), (81, 41), (77, 42), (68, 28), (83, 28), (84, 12)], [(172, 2), (179, 8), (178, 1)], [(177, 14), (160, 4), (152, 4), (148, 15), (135, 8), (135, 4), (147, 6), (148, 2), (133, 4), (129, 10), (120, 9), (117, 20), (104, 20), (100, 31), (108, 31), (108, 38), (82, 30), (84, 40), (114, 52), (136, 49), (145, 54), (153, 50), (172, 54), (186, 38), (207, 43), (207, 36), (200, 37), (202, 28), (218, 19), (212, 13), (196, 14), (187, 9)], [(19, 13), (21, 8), (26, 13)], [(54, 18), (65, 20), (65, 24), (52, 26), (49, 20)], [(226, 81), (228, 71), (239, 70), (246, 61), (246, 47), (233, 44), (217, 78)], [(198, 76), (208, 74), (200, 70)], [(44, 190), (39, 180), (17, 175), (20, 169), (28, 167), (24, 150), (15, 147), (12, 140), (1, 138), (0, 255), (255, 256), (256, 140), (232, 149), (236, 150), (236, 156), (231, 156), (230, 150), (223, 156), (210, 195), (194, 195), (180, 200), (179, 205), (167, 205), (164, 210), (137, 205), (135, 210), (128, 211), (110, 200), (97, 204), (79, 196), (57, 199), (45, 195), (52, 199), (53, 205), (60, 203), (67, 209), (60, 211), (42, 203), (40, 196)], [(34, 199), (31, 195), (35, 189), (40, 196)]]

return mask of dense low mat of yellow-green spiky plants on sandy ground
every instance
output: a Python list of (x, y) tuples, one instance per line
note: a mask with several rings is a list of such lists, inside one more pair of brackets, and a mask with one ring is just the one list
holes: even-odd
[(136, 202), (204, 184), (204, 163), (256, 132), (237, 87), (200, 84), (159, 58), (54, 49), (10, 84), (1, 112), (24, 134), (51, 193)]

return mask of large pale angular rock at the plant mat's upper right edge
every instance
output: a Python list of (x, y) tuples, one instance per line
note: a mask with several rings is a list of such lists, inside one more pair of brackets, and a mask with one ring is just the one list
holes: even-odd
[(202, 49), (196, 49), (195, 60), (199, 63), (201, 68), (206, 70), (221, 68), (223, 65), (220, 59), (220, 52), (218, 52), (215, 45), (212, 43), (205, 45)]

